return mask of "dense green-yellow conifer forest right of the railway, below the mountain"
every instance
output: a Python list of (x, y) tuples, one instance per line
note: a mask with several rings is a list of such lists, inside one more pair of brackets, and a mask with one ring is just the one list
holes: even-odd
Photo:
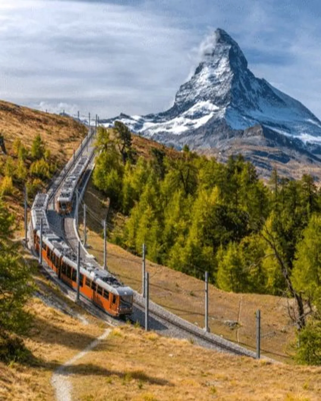
[[(93, 183), (127, 216), (110, 241), (218, 288), (286, 296), (301, 363), (321, 364), (321, 192), (313, 177), (268, 184), (241, 155), (226, 164), (150, 148), (138, 156), (129, 129), (100, 128)], [(315, 239), (317, 239), (315, 241)]]

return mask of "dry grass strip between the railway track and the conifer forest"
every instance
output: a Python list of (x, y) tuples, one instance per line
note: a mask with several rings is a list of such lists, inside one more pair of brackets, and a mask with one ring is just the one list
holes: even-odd
[[(106, 200), (89, 181), (84, 202), (94, 211), (95, 217), (87, 215), (88, 244), (102, 264), (103, 239), (100, 221), (106, 216)], [(81, 214), (81, 212), (80, 212)], [(81, 216), (82, 217), (82, 216)], [(81, 218), (80, 218), (81, 221)], [(80, 233), (83, 236), (83, 227)], [(142, 261), (121, 247), (108, 243), (107, 264), (113, 273), (134, 288), (141, 291)], [(150, 296), (158, 304), (171, 312), (204, 325), (204, 283), (165, 266), (147, 261), (150, 272)], [(291, 361), (291, 344), (295, 341), (295, 329), (287, 312), (287, 300), (280, 297), (258, 294), (234, 294), (209, 286), (209, 326), (211, 332), (221, 334), (249, 348), (255, 347), (255, 312), (260, 308), (262, 316), (262, 348), (264, 354), (272, 358)], [(231, 329), (224, 321), (240, 322), (238, 329)]]

